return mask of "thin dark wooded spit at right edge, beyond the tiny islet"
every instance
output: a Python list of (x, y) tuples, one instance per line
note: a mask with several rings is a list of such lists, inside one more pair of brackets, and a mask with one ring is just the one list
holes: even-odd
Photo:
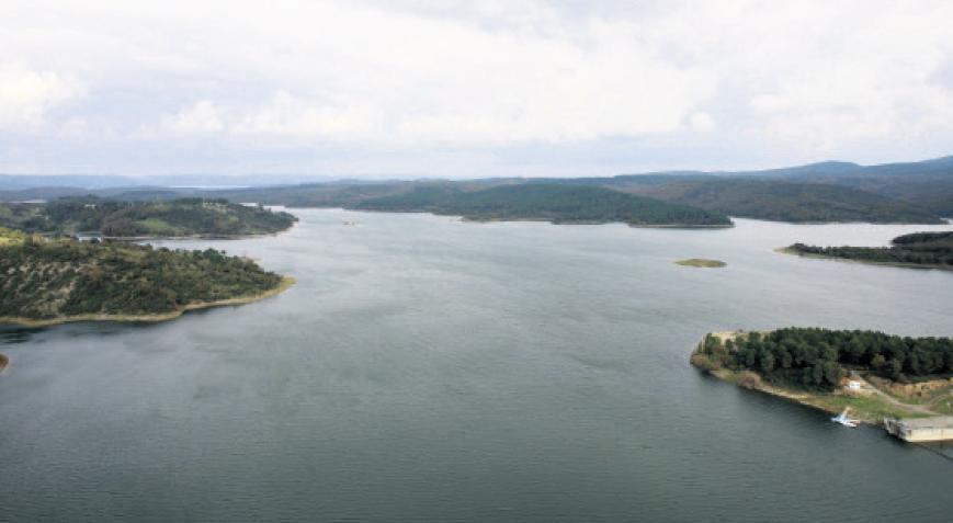
[(786, 251), (802, 255), (953, 270), (953, 231), (898, 236), (890, 247), (815, 247), (794, 243)]

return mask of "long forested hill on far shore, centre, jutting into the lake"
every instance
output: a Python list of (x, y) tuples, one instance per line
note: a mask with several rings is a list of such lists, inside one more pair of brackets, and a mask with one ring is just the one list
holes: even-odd
[(512, 184), (478, 191), (420, 187), (367, 200), (355, 208), (428, 212), (477, 220), (540, 219), (554, 224), (622, 221), (634, 226), (728, 227), (730, 219), (685, 205), (588, 185)]

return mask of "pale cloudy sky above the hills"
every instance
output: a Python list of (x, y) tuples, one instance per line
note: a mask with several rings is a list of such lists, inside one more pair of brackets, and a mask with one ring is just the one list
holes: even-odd
[(0, 172), (609, 175), (953, 155), (953, 1), (0, 2)]

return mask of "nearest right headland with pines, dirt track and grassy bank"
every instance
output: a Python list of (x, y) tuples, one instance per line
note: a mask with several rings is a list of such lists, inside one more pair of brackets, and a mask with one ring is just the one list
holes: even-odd
[[(945, 427), (953, 419), (951, 338), (819, 328), (713, 332), (691, 363), (745, 388), (828, 412), (850, 409), (866, 423), (896, 428), (923, 418)], [(924, 424), (909, 424), (917, 423)], [(953, 439), (953, 425), (938, 434)]]

